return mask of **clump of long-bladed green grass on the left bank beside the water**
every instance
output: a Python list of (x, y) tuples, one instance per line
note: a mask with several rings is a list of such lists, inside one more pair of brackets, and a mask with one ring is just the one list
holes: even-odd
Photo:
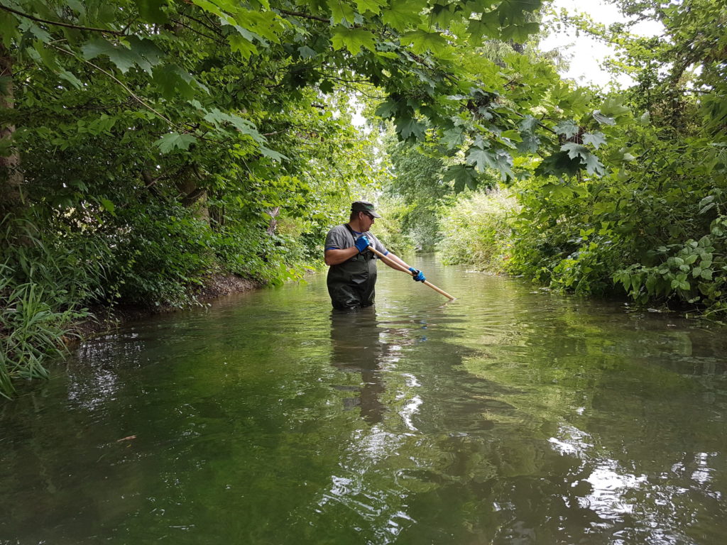
[[(72, 239), (93, 243), (83, 233)], [(67, 352), (73, 323), (89, 316), (81, 302), (102, 294), (103, 267), (79, 259), (84, 254), (66, 246), (68, 240), (64, 233), (41, 235), (28, 219), (0, 221), (2, 397), (12, 397), (17, 380), (47, 378), (44, 364)]]

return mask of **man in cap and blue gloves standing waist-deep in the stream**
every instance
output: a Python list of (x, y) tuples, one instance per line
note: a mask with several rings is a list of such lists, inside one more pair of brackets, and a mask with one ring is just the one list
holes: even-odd
[(373, 204), (356, 201), (351, 204), (348, 223), (337, 225), (326, 235), (326, 265), (331, 267), (328, 271), (328, 293), (334, 308), (348, 310), (374, 304), (377, 256), (367, 250), (369, 246), (384, 254), (384, 262), (392, 269), (398, 270), (388, 262), (389, 259), (414, 273), (414, 280), (426, 280), (422, 271), (409, 267), (369, 233), (377, 217), (381, 216), (376, 213)]

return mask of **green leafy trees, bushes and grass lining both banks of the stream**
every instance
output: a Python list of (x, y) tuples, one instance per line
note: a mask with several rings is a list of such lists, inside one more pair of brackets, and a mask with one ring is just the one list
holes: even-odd
[(397, 252), (719, 315), (727, 9), (618, 3), (664, 36), (563, 20), (619, 44), (603, 94), (540, 0), (0, 2), (0, 392), (89, 308), (301, 278), (374, 193)]

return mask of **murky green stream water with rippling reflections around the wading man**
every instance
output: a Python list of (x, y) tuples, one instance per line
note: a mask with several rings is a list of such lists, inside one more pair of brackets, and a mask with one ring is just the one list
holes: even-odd
[(0, 544), (716, 544), (727, 336), (414, 260), (126, 324), (0, 403)]

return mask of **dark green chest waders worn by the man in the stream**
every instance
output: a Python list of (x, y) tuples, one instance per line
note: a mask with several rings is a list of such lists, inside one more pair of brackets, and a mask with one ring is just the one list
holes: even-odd
[[(348, 230), (351, 232), (350, 227)], [(356, 236), (353, 232), (351, 232), (351, 236), (355, 242)], [(376, 255), (372, 251), (364, 251), (363, 254), (333, 265), (328, 270), (326, 283), (334, 308), (370, 307), (371, 304), (374, 304)]]

